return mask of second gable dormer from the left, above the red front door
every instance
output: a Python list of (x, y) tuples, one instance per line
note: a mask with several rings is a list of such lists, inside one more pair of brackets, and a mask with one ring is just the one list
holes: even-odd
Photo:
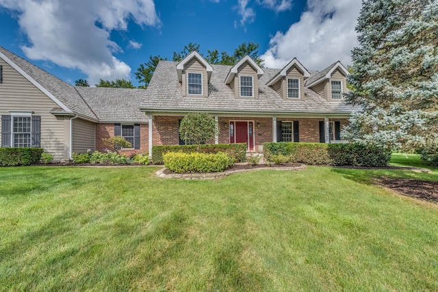
[(233, 89), (236, 98), (259, 98), (259, 77), (263, 73), (260, 66), (246, 55), (231, 67), (225, 84)]

